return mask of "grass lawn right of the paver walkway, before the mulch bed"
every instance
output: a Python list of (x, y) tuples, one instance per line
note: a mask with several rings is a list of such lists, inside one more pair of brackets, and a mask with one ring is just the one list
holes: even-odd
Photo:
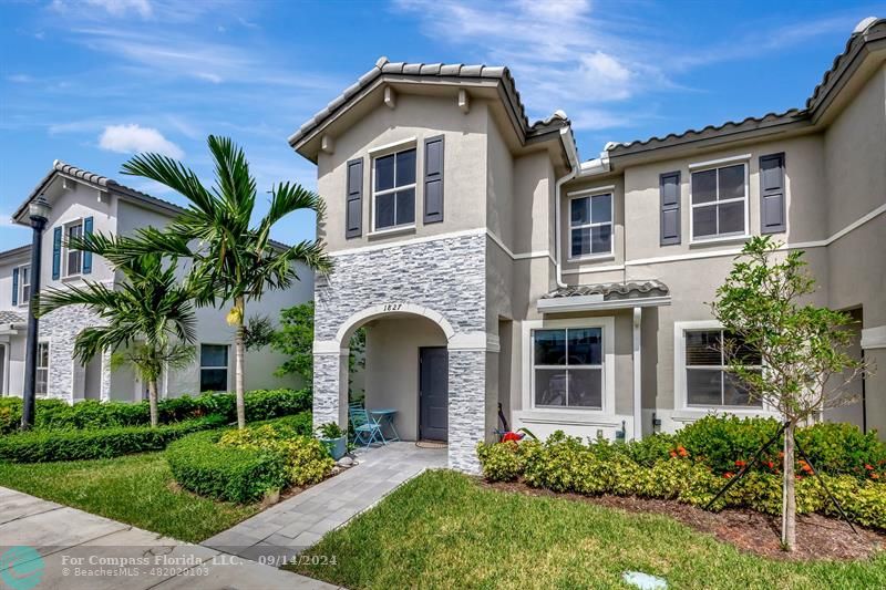
[(626, 570), (662, 576), (670, 588), (886, 588), (886, 555), (763, 559), (664, 516), (497, 491), (453, 472), (410, 482), (302, 562), (312, 565), (292, 569), (352, 589), (628, 588)]

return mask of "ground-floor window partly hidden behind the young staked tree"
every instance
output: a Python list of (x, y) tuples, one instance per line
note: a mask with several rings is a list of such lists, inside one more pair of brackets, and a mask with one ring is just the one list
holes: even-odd
[(723, 330), (687, 330), (684, 334), (687, 405), (762, 407), (762, 402), (751, 400), (738, 376), (727, 370), (723, 339), (749, 368), (761, 366), (759, 352)]

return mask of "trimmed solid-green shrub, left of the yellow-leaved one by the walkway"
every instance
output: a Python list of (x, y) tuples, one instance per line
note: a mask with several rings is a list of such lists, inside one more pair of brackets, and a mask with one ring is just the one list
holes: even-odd
[(237, 503), (257, 500), (286, 485), (281, 455), (219, 445), (222, 434), (192, 434), (169, 445), (166, 460), (178, 485), (203, 496)]

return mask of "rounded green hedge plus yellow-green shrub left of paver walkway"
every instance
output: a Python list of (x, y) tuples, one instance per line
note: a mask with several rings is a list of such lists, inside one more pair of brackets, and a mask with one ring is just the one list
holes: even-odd
[(310, 413), (241, 431), (193, 434), (169, 445), (166, 460), (183, 488), (237, 503), (255, 501), (287, 485), (315, 484), (334, 465), (310, 436)]

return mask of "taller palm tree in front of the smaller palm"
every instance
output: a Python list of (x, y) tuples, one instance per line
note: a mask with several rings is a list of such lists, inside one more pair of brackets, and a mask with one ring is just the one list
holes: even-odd
[(190, 258), (192, 272), (204, 277), (208, 286), (198, 304), (233, 302), (227, 321), (235, 328), (237, 424), (243, 428), (247, 303), (259, 300), (266, 290), (286, 289), (298, 280), (297, 262), (320, 272), (328, 271), (331, 262), (320, 240), (285, 247), (270, 239), (274, 225), (291, 213), (311, 210), (318, 220), (322, 218), (323, 204), (316, 193), (295, 183), (275, 185), (268, 211), (253, 225), (256, 180), (243, 149), (227, 137), (210, 135), (207, 143), (215, 164), (210, 189), (186, 166), (159, 154), (136, 155), (122, 172), (166, 185), (188, 200), (185, 213), (165, 231), (140, 230), (137, 248)]

